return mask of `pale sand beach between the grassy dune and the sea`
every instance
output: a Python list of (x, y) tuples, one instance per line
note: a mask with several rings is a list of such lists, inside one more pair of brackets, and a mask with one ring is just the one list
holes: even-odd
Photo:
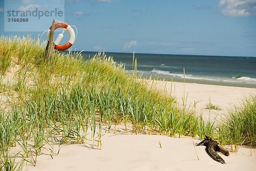
[[(151, 81), (149, 81), (148, 86), (151, 86)], [(209, 116), (211, 118), (215, 118), (215, 116), (224, 116), (228, 113), (228, 110), (233, 107), (233, 105), (239, 105), (245, 97), (252, 94), (256, 95), (256, 88), (185, 83), (184, 91), (183, 83), (172, 83), (169, 81), (166, 83), (166, 81), (157, 81), (157, 89), (164, 90), (165, 87), (168, 93), (177, 98), (180, 105), (183, 104), (182, 99), (184, 99), (183, 97), (185, 92), (186, 108), (193, 109), (195, 102), (196, 113), (202, 113), (206, 118)], [(211, 104), (220, 107), (221, 110), (206, 109), (210, 98)]]

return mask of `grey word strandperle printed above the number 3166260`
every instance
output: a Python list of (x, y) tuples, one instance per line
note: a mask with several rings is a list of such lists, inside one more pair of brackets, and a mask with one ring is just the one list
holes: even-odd
[(63, 17), (63, 11), (58, 11), (57, 8), (52, 11), (41, 11), (36, 8), (34, 11), (7, 11), (7, 17)]

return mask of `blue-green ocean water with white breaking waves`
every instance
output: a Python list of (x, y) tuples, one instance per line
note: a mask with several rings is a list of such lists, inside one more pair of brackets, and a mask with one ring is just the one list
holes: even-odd
[[(96, 52), (82, 52), (84, 58), (95, 55)], [(116, 64), (125, 64), (125, 70), (132, 71), (132, 53), (106, 52), (113, 56)], [(142, 77), (185, 82), (227, 85), (237, 87), (256, 87), (256, 58), (232, 56), (204, 55), (163, 55), (135, 54), (137, 72)]]

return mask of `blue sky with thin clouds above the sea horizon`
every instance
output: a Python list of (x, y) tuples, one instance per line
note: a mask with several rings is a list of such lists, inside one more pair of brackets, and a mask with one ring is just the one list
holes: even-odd
[[(28, 8), (43, 0), (7, 1)], [(256, 57), (256, 0), (65, 0), (64, 5), (64, 21), (78, 29), (73, 50)], [(5, 10), (0, 0), (0, 35), (42, 34), (4, 32)], [(68, 37), (65, 33), (61, 44)]]

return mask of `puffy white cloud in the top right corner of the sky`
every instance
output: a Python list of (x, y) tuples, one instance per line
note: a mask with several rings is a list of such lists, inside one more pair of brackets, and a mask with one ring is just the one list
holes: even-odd
[(220, 0), (221, 13), (230, 17), (256, 14), (256, 0)]

